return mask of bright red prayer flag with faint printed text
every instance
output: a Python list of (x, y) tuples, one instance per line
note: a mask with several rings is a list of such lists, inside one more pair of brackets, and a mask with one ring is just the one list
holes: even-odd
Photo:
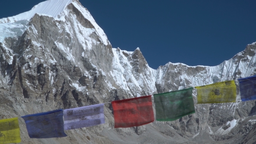
[(115, 128), (129, 128), (154, 121), (151, 95), (112, 101)]

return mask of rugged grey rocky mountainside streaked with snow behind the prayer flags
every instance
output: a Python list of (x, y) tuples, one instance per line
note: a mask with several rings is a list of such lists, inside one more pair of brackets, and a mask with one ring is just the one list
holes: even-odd
[(20, 118), (22, 144), (256, 142), (256, 101), (241, 101), (239, 87), (235, 103), (220, 104), (196, 104), (194, 89), (195, 114), (135, 128), (115, 129), (108, 103), (255, 75), (256, 43), (217, 66), (169, 62), (155, 70), (140, 49), (112, 48), (78, 0), (56, 16), (35, 13), (27, 20), (0, 19), (7, 22), (22, 25), (22, 33), (10, 29), (16, 35), (0, 42), (0, 119), (107, 103), (105, 124), (65, 131), (68, 137), (30, 139)]

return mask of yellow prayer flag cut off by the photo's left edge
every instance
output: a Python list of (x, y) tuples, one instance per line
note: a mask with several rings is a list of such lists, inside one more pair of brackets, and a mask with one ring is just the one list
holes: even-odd
[(0, 120), (0, 144), (20, 143), (18, 118)]

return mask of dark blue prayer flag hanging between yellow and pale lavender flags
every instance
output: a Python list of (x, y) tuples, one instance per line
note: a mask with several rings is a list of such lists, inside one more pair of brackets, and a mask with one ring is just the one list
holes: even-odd
[(25, 120), (30, 138), (66, 137), (62, 109), (21, 117)]

